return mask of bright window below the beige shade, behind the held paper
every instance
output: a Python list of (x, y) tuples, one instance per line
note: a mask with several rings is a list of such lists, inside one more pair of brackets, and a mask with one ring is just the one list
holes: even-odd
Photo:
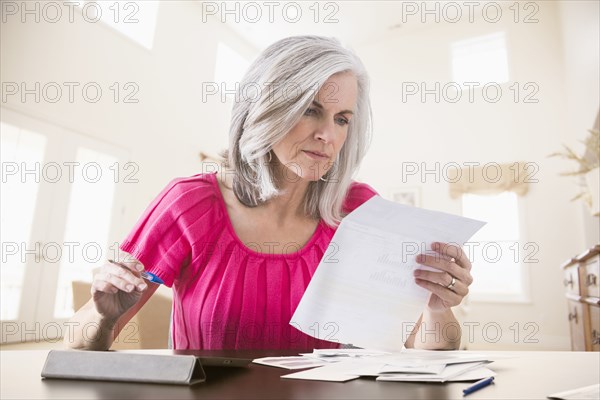
[(488, 223), (464, 246), (473, 263), (473, 301), (527, 301), (524, 262), (537, 248), (520, 238), (518, 197), (514, 192), (462, 195), (463, 215)]

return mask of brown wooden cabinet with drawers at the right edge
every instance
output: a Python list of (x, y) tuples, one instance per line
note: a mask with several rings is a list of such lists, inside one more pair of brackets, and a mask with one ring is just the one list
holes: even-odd
[(571, 349), (600, 351), (600, 245), (561, 266), (571, 329)]

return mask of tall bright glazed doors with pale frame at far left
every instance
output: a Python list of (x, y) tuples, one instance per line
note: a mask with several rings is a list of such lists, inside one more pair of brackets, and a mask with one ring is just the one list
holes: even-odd
[(91, 282), (116, 249), (136, 168), (119, 146), (9, 109), (0, 115), (2, 343), (56, 339), (73, 314), (72, 282)]

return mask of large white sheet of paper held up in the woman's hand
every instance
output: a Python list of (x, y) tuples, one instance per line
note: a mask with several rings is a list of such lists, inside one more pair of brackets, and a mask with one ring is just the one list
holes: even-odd
[(290, 324), (318, 339), (399, 351), (429, 292), (414, 282), (431, 243), (464, 244), (485, 223), (374, 196), (342, 220)]

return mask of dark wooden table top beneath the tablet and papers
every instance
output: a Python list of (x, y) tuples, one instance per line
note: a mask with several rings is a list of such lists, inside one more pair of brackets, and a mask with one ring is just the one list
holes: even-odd
[[(171, 350), (131, 352), (172, 354)], [(309, 351), (310, 352), (310, 351)], [(298, 352), (195, 352), (213, 356), (258, 358)], [(479, 352), (478, 352), (479, 353)], [(511, 355), (490, 364), (496, 382), (467, 399), (544, 399), (547, 395), (599, 382), (600, 353), (486, 352)], [(248, 368), (205, 368), (207, 381), (194, 386), (41, 379), (48, 351), (2, 351), (2, 399), (462, 399), (469, 383), (345, 383), (281, 379), (290, 371), (251, 364)]]

